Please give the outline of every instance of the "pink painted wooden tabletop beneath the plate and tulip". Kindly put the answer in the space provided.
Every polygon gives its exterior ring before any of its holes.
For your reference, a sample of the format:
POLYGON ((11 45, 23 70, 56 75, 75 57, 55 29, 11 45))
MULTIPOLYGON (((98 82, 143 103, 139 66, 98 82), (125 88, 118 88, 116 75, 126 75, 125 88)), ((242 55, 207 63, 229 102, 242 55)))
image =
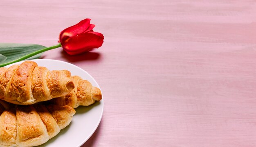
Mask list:
POLYGON ((1 0, 0 42, 54 45, 84 18, 104 34, 90 53, 42 56, 101 86, 103 118, 83 147, 255 147, 255 8, 254 0, 1 0))

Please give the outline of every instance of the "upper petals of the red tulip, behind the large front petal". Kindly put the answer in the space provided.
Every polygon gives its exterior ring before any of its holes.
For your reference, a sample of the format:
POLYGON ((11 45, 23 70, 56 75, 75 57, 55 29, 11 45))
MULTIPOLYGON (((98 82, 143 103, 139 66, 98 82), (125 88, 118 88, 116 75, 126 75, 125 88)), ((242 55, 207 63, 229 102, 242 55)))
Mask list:
POLYGON ((73 25, 73 26, 68 27, 68 28, 64 29, 63 31, 61 31, 60 36, 59 36, 59 42, 63 43, 65 41, 67 41, 67 39, 69 37, 73 37, 80 33, 92 30, 93 27, 95 27, 95 25, 91 25, 90 20, 91 19, 86 18, 86 19, 80 21, 79 23, 77 23, 76 25, 73 25))

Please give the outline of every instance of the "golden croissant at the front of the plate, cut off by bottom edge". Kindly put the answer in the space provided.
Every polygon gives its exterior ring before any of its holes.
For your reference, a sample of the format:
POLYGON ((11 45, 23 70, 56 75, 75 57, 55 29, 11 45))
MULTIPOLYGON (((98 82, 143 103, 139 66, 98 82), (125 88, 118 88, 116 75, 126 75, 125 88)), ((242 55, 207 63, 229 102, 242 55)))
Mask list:
POLYGON ((0 100, 0 114, 0 146, 32 147, 69 125, 75 110, 59 105, 9 105, 0 100))

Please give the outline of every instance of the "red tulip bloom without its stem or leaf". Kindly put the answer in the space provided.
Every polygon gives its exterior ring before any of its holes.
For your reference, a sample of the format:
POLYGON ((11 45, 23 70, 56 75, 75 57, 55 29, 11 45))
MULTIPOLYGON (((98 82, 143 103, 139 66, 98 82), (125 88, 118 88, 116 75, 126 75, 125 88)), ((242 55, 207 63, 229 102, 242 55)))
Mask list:
POLYGON ((90 20, 87 18, 61 31, 58 42, 68 54, 87 52, 103 44, 104 36, 92 30, 95 25, 90 24, 90 20))

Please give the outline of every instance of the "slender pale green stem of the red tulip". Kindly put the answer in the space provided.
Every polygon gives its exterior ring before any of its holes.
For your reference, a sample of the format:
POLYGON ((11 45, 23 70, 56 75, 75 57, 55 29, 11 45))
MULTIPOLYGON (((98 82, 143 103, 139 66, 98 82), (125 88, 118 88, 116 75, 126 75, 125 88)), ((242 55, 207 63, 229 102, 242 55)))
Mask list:
POLYGON ((46 48, 44 48, 44 49, 40 49, 40 50, 35 51, 35 52, 33 52, 33 53, 29 53, 29 54, 27 54, 27 55, 25 55, 25 56, 22 56, 22 57, 20 57, 20 58, 18 58, 18 59, 16 59, 16 60, 13 60, 13 61, 10 61, 10 62, 1 64, 0 67, 4 67, 4 66, 6 66, 6 65, 9 65, 9 64, 12 64, 12 63, 15 63, 15 62, 19 62, 19 61, 22 61, 22 60, 25 60, 25 59, 27 59, 27 58, 30 58, 30 57, 32 57, 32 56, 37 55, 38 53, 43 53, 43 52, 45 52, 45 51, 49 51, 49 50, 51 50, 51 49, 56 49, 56 48, 58 48, 58 47, 61 47, 61 43, 58 43, 57 45, 53 45, 53 46, 51 46, 51 47, 46 47, 46 48))

